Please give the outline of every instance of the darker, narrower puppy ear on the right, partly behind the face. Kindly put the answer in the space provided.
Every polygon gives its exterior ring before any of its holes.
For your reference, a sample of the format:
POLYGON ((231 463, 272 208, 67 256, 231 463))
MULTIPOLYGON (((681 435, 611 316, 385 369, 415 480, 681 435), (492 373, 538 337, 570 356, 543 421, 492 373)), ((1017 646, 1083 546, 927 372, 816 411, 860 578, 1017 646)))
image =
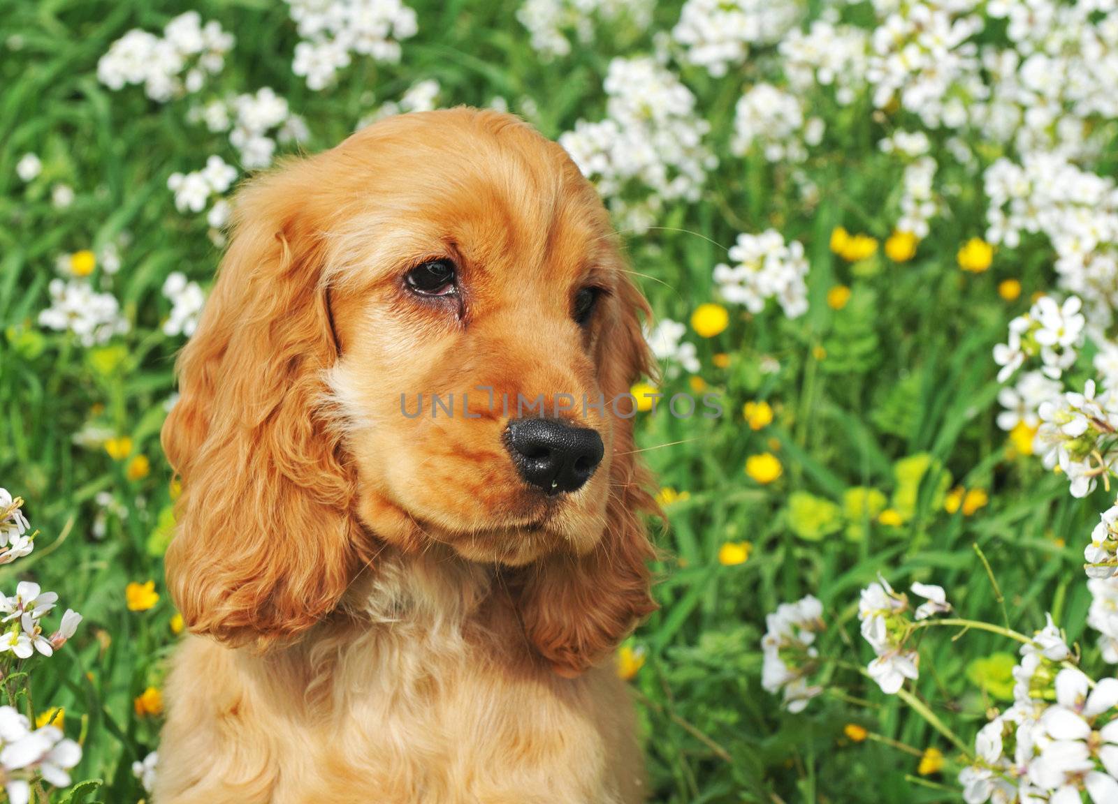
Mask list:
MULTIPOLYGON (((597 360, 607 400, 627 393, 650 372, 652 355, 641 332, 638 310, 647 315, 647 303, 628 279, 623 279, 598 339, 597 360)), ((624 413, 625 403, 619 408, 624 413)), ((562 676, 577 676, 608 657, 637 622, 656 609, 648 570, 654 551, 642 519, 642 514, 657 508, 646 489, 648 482, 647 470, 634 454, 633 420, 617 417, 601 540, 586 555, 556 554, 524 570, 518 601, 524 630, 562 676)))

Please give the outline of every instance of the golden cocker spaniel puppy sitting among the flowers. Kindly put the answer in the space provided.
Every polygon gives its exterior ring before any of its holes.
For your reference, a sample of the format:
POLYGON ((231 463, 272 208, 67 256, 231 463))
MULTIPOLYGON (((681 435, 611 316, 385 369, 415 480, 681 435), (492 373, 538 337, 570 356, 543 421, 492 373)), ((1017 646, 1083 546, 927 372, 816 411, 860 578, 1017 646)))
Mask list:
POLYGON ((591 186, 456 108, 236 207, 163 428, 192 635, 157 804, 641 801, 609 659, 654 607, 646 305, 591 186))

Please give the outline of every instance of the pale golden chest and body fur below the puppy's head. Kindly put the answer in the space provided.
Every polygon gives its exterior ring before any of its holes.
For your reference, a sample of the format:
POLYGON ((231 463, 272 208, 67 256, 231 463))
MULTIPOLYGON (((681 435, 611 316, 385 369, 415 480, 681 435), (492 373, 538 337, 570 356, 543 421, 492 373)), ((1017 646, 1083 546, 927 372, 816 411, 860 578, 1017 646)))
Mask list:
POLYGON ((347 624, 299 648, 181 645, 154 804, 641 801, 612 669, 568 680, 533 663, 486 613, 477 568, 379 570, 347 624))

